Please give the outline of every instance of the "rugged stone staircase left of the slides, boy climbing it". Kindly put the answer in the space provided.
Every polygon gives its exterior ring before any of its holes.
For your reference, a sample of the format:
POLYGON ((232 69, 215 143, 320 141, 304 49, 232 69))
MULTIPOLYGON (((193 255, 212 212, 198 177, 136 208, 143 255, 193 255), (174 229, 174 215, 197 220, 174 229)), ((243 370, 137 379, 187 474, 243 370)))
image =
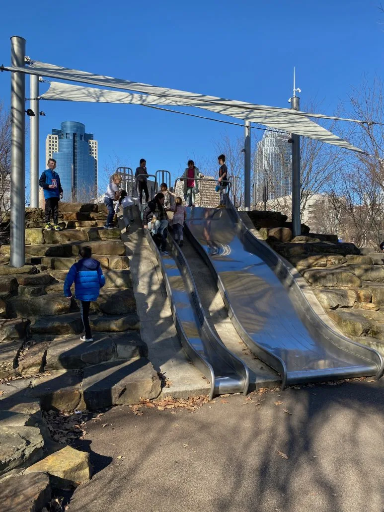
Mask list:
POLYGON ((43 409, 96 410, 160 394, 140 338, 130 261, 120 231, 102 229, 105 218, 104 206, 59 203, 65 230, 47 231, 42 211, 29 208, 26 266, 10 267, 10 248, 1 246, 0 410, 36 400, 43 409), (78 306, 62 291, 81 245, 92 247, 106 280, 92 303, 91 344, 80 342, 78 306))

